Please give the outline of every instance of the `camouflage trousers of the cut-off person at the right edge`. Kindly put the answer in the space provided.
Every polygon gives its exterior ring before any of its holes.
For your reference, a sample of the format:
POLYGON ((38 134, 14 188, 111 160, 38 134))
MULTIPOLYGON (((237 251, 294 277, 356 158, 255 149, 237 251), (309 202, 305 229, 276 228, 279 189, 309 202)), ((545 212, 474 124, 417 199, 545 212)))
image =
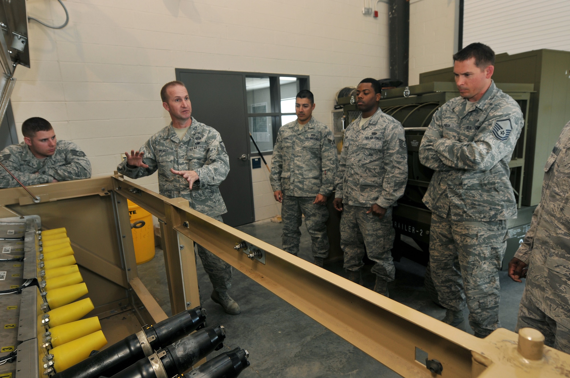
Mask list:
POLYGON ((544 344, 559 351, 570 353, 570 329, 556 322, 535 306, 527 290, 528 286, 524 287, 515 331, 518 332, 520 328, 524 327, 535 328, 544 335, 544 344))

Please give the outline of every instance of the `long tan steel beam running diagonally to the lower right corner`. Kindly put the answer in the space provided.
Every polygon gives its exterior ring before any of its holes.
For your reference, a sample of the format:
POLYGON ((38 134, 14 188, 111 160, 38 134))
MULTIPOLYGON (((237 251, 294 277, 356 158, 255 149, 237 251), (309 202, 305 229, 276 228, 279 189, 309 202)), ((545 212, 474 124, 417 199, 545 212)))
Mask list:
MULTIPOLYGON (((519 377, 533 366, 512 354, 518 339, 514 332, 500 329, 486 339, 475 338, 194 211, 188 202, 179 200, 168 200, 177 213, 170 216, 170 227, 402 376, 435 376, 415 360, 416 348, 442 363, 442 377, 499 376, 496 372, 519 377), (178 225, 174 224, 177 220, 178 225), (235 243, 244 240, 266 251, 266 264, 234 250, 235 243)), ((540 362, 539 371, 546 375, 541 376, 570 372, 570 355, 548 347, 545 355, 549 358, 540 362)))

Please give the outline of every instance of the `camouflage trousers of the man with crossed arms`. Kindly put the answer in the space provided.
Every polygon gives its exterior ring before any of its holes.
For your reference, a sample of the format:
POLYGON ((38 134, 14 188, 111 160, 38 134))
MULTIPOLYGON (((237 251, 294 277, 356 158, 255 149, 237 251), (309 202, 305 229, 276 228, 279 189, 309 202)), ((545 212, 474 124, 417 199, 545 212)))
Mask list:
POLYGON ((499 322, 499 269, 507 248, 507 221, 453 221, 431 214, 431 278, 449 310, 469 308, 469 324, 484 337, 499 322))

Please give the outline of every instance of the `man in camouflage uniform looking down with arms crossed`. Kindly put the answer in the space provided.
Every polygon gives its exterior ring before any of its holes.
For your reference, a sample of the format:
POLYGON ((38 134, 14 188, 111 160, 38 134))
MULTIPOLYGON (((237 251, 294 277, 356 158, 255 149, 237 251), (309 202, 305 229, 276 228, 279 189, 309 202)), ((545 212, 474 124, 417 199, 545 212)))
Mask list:
POLYGON ((491 80, 495 53, 472 43, 453 56, 461 97, 434 114, 420 162, 435 170, 424 203, 431 210, 430 265, 443 322, 469 324, 484 337, 500 327, 499 275, 507 219, 516 217, 508 163, 523 128, 519 105, 491 80))

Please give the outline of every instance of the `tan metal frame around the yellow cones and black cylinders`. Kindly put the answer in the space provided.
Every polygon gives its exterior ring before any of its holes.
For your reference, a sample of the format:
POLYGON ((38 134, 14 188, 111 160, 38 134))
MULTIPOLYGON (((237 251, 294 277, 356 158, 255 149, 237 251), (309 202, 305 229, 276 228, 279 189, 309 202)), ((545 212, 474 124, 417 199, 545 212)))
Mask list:
MULTIPOLYGON (((194 262, 195 241, 404 377, 437 376, 416 360, 417 350, 426 352, 429 359, 441 362, 442 377, 570 375, 570 355, 544 347, 542 359, 528 360, 518 351, 518 335, 514 332, 501 328, 485 339, 475 338, 194 211, 187 200, 165 198, 122 176, 44 184, 35 186, 34 193, 42 198, 42 202, 27 202, 28 195, 22 188, 2 190, 0 208, 6 212, 38 213, 42 216, 42 227, 47 223, 49 228, 50 216, 57 218, 59 224, 69 219, 81 223, 75 214, 82 202, 96 204, 100 197, 104 199, 100 206, 107 208, 112 202, 115 223, 111 228, 117 229, 116 236, 113 232, 107 232, 109 235, 97 233, 97 236, 101 243, 105 238, 116 239, 113 254, 121 256, 120 274, 115 277, 103 272, 105 269, 94 265, 95 258, 83 260, 83 254, 97 254, 88 248, 76 251, 76 258, 85 268, 107 280, 114 279, 117 285, 128 289, 137 314, 143 319, 157 322, 166 315, 137 277, 126 199, 157 216, 161 222, 173 314, 200 303, 194 262), (59 209, 56 214, 45 213, 53 212, 54 208, 59 209), (266 263, 250 260, 245 253, 235 250, 235 244, 242 241, 266 251, 266 263)), ((0 216, 3 216, 2 211, 0 216)), ((104 228, 108 219, 92 220, 92 223, 104 228)), ((109 229, 108 225, 106 229, 109 229)), ((70 237, 74 240, 72 235, 70 237)), ((75 240, 80 238, 78 235, 75 240)), ((108 262, 105 268, 109 268, 108 262)))

